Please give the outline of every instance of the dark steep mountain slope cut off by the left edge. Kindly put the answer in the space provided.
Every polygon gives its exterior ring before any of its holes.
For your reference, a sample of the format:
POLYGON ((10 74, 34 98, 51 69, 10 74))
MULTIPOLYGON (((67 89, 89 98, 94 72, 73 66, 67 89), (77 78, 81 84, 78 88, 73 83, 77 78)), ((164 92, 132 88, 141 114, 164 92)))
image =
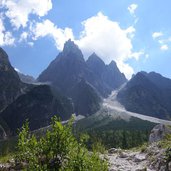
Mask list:
POLYGON ((22 93, 22 88, 24 85, 11 66, 8 55, 0 48, 0 111, 22 93))

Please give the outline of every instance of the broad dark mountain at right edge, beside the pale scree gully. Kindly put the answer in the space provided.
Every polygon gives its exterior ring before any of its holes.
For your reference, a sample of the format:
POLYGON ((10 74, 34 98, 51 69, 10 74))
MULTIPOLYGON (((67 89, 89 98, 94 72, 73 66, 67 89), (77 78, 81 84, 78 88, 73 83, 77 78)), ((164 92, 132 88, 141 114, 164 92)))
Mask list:
POLYGON ((117 98, 129 111, 161 119, 171 118, 171 80, 155 72, 137 73, 117 98))

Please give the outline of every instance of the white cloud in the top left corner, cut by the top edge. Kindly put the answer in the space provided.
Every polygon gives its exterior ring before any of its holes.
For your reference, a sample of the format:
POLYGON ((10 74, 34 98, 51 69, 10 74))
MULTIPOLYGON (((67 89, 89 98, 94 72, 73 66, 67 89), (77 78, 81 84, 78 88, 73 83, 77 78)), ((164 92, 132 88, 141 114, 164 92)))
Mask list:
POLYGON ((5 15, 11 24, 19 29, 26 27, 29 15, 35 14, 42 17, 52 8, 51 0, 3 0, 1 6, 6 8, 5 15))

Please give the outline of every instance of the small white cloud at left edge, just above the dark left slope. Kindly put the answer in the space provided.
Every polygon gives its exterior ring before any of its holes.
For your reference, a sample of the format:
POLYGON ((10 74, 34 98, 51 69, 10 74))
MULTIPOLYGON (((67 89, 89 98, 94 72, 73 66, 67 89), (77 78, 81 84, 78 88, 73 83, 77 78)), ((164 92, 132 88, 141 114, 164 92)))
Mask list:
POLYGON ((0 46, 13 45, 14 41, 15 39, 13 38, 11 32, 5 30, 3 18, 0 15, 0 46))

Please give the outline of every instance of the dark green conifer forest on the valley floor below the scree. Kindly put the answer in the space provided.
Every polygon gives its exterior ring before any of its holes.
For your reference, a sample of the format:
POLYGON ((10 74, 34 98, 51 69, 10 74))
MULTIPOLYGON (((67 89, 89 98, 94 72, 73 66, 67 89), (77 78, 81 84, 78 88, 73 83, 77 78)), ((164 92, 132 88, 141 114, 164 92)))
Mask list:
POLYGON ((141 146, 148 142, 150 131, 155 126, 151 122, 136 118, 130 121, 120 119, 108 121, 108 118, 95 121, 93 119, 81 120, 77 124, 77 129, 90 136, 90 146, 98 140, 106 149, 113 147, 130 149, 141 146))

